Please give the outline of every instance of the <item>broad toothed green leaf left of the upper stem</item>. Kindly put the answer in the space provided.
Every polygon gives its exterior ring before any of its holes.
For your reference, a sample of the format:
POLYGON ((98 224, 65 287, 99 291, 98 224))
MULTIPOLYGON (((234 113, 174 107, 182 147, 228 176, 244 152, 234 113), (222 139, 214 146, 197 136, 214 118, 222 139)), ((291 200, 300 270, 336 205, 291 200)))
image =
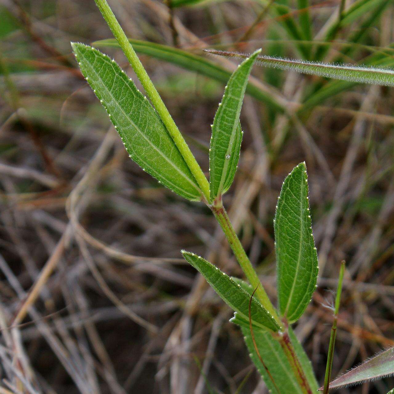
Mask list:
POLYGON ((201 200, 197 182, 160 117, 134 82, 108 56, 72 43, 87 82, 106 108, 125 148, 144 171, 180 196, 201 200))

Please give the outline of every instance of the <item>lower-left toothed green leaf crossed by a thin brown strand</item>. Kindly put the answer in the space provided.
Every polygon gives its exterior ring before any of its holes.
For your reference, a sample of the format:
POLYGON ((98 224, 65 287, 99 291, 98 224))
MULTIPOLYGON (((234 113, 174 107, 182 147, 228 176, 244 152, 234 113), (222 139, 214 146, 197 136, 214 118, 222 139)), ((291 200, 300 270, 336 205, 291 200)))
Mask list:
MULTIPOLYGON (((184 250, 182 250, 182 255, 187 262, 203 275, 206 281, 230 308, 235 310, 243 319, 249 321, 250 295, 239 284, 204 258, 184 250)), ((279 325, 275 322, 274 318, 255 297, 253 297, 251 303, 251 319, 253 325, 259 329, 279 330, 279 325)))

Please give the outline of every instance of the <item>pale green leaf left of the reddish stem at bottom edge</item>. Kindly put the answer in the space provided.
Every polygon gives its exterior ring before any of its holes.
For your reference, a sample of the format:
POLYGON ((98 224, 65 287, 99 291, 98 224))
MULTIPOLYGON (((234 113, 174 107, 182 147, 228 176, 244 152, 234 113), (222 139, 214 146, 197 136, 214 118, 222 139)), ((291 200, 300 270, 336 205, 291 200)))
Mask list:
POLYGON ((303 393, 279 341, 274 339, 271 333, 253 330, 258 351, 280 393, 278 393, 262 362, 258 358, 249 327, 241 327, 241 330, 253 364, 255 364, 258 372, 260 372, 269 391, 274 394, 303 393))

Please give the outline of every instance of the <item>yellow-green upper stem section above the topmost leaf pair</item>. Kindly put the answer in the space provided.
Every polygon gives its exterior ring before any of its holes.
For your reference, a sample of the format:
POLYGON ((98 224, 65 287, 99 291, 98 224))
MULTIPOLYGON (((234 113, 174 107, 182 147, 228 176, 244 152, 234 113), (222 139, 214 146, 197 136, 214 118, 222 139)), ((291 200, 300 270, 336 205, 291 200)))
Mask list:
POLYGON ((186 164, 188 165, 191 173, 195 177, 195 180, 199 184, 203 197, 209 202, 209 184, 206 179, 201 167, 195 160, 193 154, 191 153, 186 141, 184 140, 182 134, 180 133, 177 125, 175 124, 173 118, 167 110, 162 98, 160 97, 158 91, 153 85, 151 78, 149 78, 148 73, 145 71, 141 61, 139 60, 136 52, 134 51, 132 45, 128 41, 125 32, 123 32, 121 25, 117 21, 112 9, 108 5, 106 0, 95 0, 97 7, 107 22, 109 28, 111 29, 114 37, 117 39, 119 45, 121 46, 126 58, 133 67, 134 72, 138 76, 141 85, 144 87, 149 99, 151 100, 154 108, 160 115, 167 131, 171 135, 175 144, 177 145, 180 153, 182 154, 186 164))

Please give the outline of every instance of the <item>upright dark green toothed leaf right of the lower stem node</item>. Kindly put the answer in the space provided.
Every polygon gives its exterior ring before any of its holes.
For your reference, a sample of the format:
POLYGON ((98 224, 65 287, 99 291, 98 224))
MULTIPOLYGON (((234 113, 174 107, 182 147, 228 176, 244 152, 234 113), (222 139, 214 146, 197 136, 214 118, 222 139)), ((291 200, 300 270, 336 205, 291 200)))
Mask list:
POLYGON ((305 163, 294 167, 282 184, 274 230, 279 311, 291 323, 308 306, 318 276, 305 163))

